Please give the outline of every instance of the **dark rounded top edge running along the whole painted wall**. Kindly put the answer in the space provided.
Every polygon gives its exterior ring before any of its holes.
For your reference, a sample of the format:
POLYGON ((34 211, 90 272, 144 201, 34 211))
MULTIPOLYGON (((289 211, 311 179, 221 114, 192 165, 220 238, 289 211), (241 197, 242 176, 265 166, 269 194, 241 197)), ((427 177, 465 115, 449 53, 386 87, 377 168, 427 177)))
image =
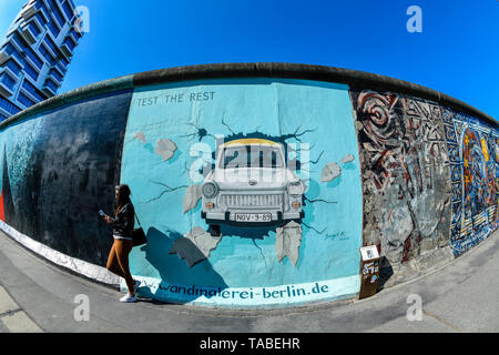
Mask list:
POLYGON ((335 67, 258 62, 175 67, 104 80, 98 83, 71 90, 67 93, 59 94, 40 103, 37 103, 35 105, 28 108, 1 122, 0 130, 23 118, 31 116, 43 111, 53 110, 55 108, 85 98, 113 91, 196 79, 249 77, 315 80, 345 83, 353 88, 358 87, 363 89, 395 91, 398 93, 417 97, 424 100, 434 101, 436 103, 439 103, 440 105, 449 106, 469 115, 482 119, 490 124, 498 125, 496 119, 467 104, 466 102, 457 100, 436 90, 404 80, 335 67))

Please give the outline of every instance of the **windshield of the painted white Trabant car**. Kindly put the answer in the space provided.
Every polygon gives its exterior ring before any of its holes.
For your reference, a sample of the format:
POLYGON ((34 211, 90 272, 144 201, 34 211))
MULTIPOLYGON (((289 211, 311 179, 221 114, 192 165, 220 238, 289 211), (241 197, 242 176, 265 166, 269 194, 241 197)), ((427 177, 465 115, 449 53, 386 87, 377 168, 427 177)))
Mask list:
POLYGON ((240 145, 224 148, 218 168, 283 168, 278 148, 266 145, 240 145))

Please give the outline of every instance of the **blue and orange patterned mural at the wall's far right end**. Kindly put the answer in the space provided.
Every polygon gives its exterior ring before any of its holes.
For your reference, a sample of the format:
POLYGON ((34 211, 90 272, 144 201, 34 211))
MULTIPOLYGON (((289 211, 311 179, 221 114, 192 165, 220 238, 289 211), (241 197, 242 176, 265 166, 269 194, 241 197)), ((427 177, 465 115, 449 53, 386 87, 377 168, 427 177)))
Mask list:
POLYGON ((460 255, 497 229, 498 131, 476 118, 442 109, 450 160, 450 246, 460 255))

